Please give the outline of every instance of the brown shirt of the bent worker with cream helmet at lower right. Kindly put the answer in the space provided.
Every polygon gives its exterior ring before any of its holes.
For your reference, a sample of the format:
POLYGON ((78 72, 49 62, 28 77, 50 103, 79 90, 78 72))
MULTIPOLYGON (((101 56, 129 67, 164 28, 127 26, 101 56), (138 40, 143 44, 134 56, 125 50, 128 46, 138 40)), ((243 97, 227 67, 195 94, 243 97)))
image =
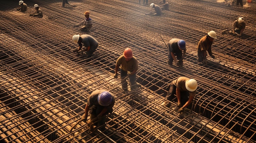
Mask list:
POLYGON ((191 92, 189 90, 186 89, 186 81, 188 81, 189 78, 187 77, 178 77, 177 79, 175 79, 173 81, 173 84, 180 89, 180 91, 188 91, 189 92, 189 96, 195 96, 196 90, 191 92))

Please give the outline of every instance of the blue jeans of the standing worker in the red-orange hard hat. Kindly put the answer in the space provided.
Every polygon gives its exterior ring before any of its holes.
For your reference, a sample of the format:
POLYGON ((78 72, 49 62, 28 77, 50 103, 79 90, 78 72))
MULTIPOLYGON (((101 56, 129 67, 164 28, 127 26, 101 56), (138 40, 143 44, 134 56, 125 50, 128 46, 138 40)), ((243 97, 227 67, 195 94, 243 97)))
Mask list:
MULTIPOLYGON (((122 89, 123 90, 128 90, 128 86, 127 86, 127 79, 124 79, 127 76, 127 71, 124 70, 120 70, 120 74, 121 74, 121 84, 122 84, 122 89)), ((131 90, 134 90, 137 88, 137 83, 136 83, 136 73, 133 75, 129 76, 130 79, 130 88, 131 90)))

